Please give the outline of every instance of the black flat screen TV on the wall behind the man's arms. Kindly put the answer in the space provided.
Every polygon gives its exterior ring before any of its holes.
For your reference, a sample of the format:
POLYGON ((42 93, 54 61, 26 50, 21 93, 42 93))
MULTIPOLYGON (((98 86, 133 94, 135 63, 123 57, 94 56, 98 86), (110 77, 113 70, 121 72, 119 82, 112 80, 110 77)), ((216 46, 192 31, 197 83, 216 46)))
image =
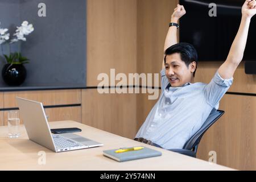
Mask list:
MULTIPOLYGON (((195 46, 199 61, 225 61, 241 22, 245 0, 180 0, 187 13, 180 19, 180 42, 195 46), (216 16, 209 16, 210 3, 216 4, 216 16)), ((213 13, 213 11, 211 11, 213 13)), ((243 56, 256 61, 256 17, 251 19, 243 56)))

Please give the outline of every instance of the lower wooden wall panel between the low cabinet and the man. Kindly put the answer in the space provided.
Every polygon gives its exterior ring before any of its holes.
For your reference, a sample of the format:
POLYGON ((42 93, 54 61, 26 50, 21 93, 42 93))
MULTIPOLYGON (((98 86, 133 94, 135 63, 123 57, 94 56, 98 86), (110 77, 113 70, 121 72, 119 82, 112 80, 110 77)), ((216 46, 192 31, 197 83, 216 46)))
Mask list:
POLYGON ((135 94, 82 90, 82 123, 133 139, 137 133, 135 94))

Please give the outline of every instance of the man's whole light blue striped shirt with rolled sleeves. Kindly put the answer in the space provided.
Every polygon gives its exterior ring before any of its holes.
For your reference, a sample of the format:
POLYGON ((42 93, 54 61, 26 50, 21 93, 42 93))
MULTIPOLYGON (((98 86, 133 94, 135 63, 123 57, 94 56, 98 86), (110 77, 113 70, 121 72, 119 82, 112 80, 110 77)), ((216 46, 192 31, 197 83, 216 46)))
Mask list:
POLYGON ((218 109, 218 102, 232 85, 233 77, 223 79, 217 71, 209 84, 196 82, 171 87, 165 69, 160 73, 162 92, 136 138, 151 140, 166 149, 183 148, 210 111, 218 109))

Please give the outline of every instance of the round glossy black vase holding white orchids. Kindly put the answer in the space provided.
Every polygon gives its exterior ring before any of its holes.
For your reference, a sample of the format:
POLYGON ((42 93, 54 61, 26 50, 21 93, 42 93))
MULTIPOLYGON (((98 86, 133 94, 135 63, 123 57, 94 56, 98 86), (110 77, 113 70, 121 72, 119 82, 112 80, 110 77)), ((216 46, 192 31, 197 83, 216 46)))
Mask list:
POLYGON ((5 64, 2 69, 2 77, 7 85, 19 86, 27 76, 23 64, 5 64))

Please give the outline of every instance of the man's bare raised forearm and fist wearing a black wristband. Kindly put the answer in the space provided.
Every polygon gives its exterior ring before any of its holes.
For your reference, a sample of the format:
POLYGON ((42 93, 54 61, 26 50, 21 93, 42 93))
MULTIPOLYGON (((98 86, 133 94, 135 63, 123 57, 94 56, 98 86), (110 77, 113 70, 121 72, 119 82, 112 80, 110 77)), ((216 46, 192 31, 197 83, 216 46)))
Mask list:
MULTIPOLYGON (((174 13, 171 16, 171 23, 178 23, 181 16, 183 16, 185 13, 186 11, 184 7, 178 4, 177 7, 174 9, 174 13)), ((164 52, 168 47, 171 47, 176 43, 177 43, 177 27, 171 26, 169 27, 169 30, 166 36, 166 41, 164 42, 164 52)), ((164 61, 163 61, 162 68, 164 68, 164 61)))

